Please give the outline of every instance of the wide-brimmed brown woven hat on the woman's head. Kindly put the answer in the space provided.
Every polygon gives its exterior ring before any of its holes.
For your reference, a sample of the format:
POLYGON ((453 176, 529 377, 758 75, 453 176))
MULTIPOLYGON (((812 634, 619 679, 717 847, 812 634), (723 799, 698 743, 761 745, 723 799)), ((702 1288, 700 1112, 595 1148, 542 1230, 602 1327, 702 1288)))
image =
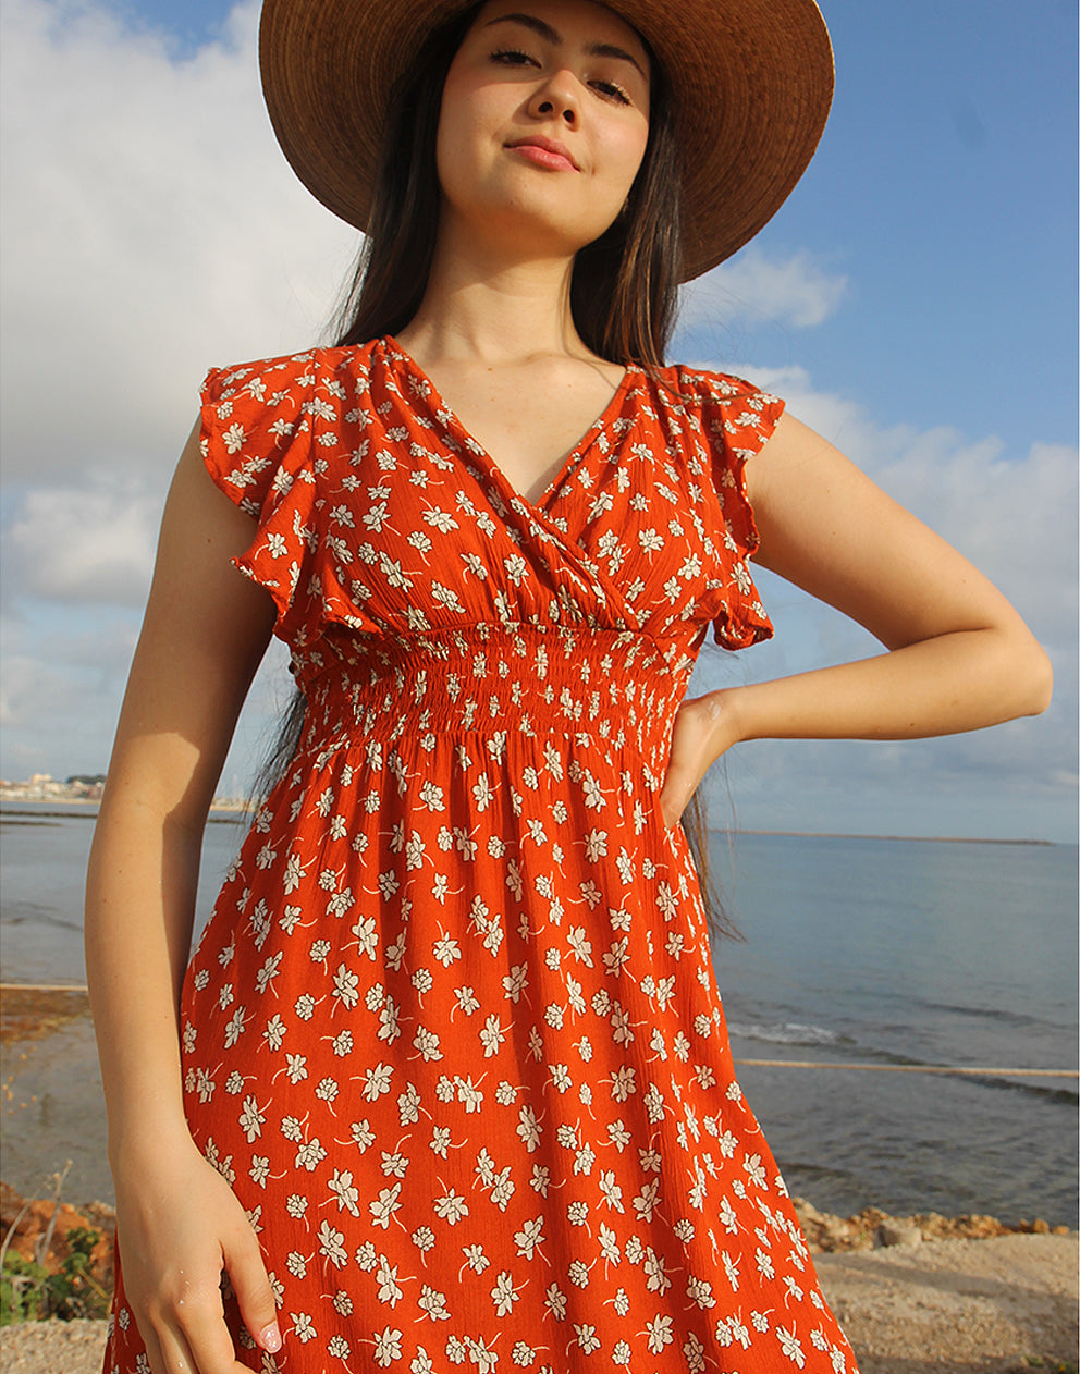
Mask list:
MULTIPOLYGON (((469 0, 264 0, 262 91, 308 190, 365 229, 390 88, 469 0)), ((675 91, 683 280, 731 257, 807 169, 833 99, 813 0, 611 0, 675 91)))

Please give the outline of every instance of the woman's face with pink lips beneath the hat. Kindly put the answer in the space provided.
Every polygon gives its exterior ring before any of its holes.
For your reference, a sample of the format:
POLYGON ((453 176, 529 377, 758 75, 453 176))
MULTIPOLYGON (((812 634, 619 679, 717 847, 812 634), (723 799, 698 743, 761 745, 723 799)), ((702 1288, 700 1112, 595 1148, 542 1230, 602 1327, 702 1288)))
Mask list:
POLYGON ((573 254, 614 221, 649 140, 649 56, 587 0, 491 0, 442 92, 442 227, 573 254))

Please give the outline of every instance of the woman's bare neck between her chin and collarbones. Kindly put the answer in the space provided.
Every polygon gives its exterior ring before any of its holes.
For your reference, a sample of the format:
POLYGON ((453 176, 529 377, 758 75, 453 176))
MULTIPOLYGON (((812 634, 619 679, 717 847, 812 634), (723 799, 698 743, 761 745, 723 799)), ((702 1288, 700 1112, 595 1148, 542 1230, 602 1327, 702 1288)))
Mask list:
POLYGON ((420 308, 397 335, 403 348, 422 364, 592 357, 570 315, 573 257, 522 258, 464 239, 440 234, 420 308))

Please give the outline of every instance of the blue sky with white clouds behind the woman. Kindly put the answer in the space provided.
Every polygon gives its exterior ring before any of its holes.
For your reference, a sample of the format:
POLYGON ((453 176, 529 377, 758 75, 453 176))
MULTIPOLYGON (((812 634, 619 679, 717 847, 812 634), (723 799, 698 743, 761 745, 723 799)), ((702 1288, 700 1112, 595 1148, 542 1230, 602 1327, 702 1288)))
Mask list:
MULTIPOLYGON (((1076 841, 1077 91, 1065 0, 823 0, 837 95, 787 203, 684 293, 673 356, 783 396, 971 558, 1047 647, 1040 716, 951 739, 745 745, 713 824, 1076 841)), ((0 774, 104 771, 161 504, 212 365, 317 341, 356 235, 294 179, 258 5, 0 10, 0 774)), ((760 574, 776 639, 693 690, 863 657, 760 574)), ((247 786, 287 698, 253 688, 247 786)))

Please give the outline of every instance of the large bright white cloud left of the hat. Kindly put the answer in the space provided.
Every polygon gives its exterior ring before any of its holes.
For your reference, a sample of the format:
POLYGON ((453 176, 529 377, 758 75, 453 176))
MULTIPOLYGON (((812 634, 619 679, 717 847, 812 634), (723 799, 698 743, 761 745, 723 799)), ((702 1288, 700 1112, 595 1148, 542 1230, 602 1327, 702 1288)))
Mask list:
POLYGON ((212 364, 312 342, 357 235, 300 185, 258 91, 258 5, 164 41, 69 0, 5 0, 3 442, 37 482, 161 481, 212 364))

